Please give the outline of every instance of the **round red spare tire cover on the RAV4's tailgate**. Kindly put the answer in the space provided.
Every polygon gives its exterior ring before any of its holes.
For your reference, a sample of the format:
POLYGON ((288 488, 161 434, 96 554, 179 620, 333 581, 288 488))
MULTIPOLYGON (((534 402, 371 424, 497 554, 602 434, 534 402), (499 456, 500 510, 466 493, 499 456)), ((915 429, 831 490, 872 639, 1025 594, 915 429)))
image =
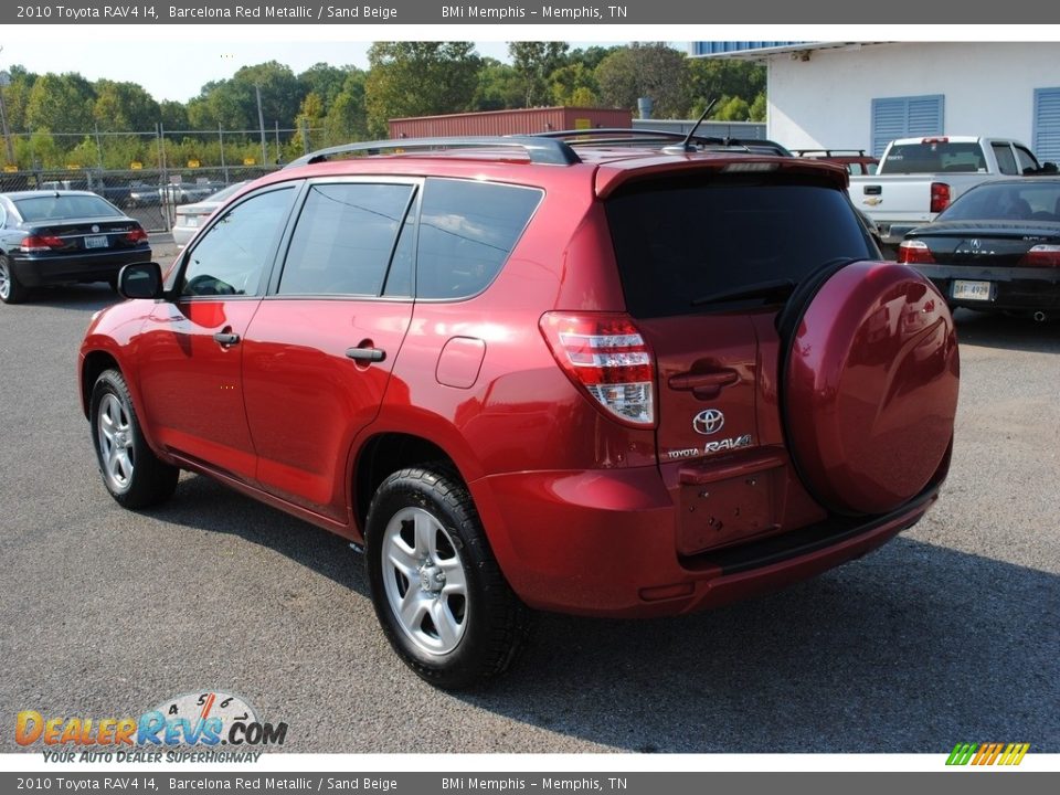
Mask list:
POLYGON ((784 364, 784 420, 806 488, 840 513, 886 513, 946 457, 957 410, 946 301, 893 263, 847 265, 817 290, 784 364))

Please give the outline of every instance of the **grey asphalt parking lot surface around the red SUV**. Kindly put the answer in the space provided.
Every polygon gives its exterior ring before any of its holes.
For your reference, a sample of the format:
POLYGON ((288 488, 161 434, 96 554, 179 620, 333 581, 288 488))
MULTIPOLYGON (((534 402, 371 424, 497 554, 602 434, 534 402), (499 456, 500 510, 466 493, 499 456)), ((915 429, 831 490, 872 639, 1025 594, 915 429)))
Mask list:
POLYGON ((75 362, 113 300, 0 306, 0 751, 21 710, 221 689, 299 752, 1060 752, 1060 322, 958 314, 953 470, 880 551, 714 613, 540 616, 507 678, 453 696, 391 653, 341 539, 197 476, 147 513, 107 496, 75 362))

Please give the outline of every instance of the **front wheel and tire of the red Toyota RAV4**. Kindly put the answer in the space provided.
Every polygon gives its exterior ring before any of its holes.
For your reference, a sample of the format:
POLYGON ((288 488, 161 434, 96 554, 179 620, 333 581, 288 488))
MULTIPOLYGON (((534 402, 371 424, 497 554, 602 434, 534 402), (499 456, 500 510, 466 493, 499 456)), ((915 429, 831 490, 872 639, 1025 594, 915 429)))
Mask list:
POLYGON ((92 390, 88 416, 96 460, 110 496, 124 508, 148 508, 169 499, 180 469, 148 446, 129 389, 117 370, 106 370, 92 390))

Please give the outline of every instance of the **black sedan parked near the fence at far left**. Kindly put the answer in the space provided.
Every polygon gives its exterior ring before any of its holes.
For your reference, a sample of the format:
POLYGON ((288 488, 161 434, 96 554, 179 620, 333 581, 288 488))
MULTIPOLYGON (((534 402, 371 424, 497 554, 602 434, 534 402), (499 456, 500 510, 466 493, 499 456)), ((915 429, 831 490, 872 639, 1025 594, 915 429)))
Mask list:
POLYGON ((147 262, 147 232, 88 191, 0 193, 0 300, 19 304, 32 287, 117 283, 123 265, 147 262))

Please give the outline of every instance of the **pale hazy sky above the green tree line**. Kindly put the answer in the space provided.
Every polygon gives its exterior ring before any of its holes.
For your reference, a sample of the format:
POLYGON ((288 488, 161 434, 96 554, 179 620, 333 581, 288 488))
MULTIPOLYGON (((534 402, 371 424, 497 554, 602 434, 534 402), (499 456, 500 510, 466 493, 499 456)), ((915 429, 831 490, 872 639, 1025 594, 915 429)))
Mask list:
MULTIPOLYGON (((0 68, 19 64, 39 74, 78 72, 89 81, 107 78, 138 83, 157 102, 188 102, 199 96, 199 91, 210 81, 231 77, 243 66, 266 61, 286 64, 295 74, 321 61, 332 66, 350 64, 367 68, 371 46, 369 41, 251 41, 246 36, 237 38, 239 34, 231 30, 227 38, 203 41, 194 40, 198 39, 195 32, 189 26, 172 33, 169 41, 161 44, 157 41, 128 41, 127 38, 114 46, 106 41, 82 36, 61 45, 42 47, 40 40, 32 36, 3 36, 0 39, 3 46, 0 68)), ((462 33, 465 31, 454 30, 453 38, 462 33)), ((571 42, 574 47, 594 43, 622 42, 571 42)), ((508 60, 506 41, 476 42, 476 51, 499 61, 508 60)))

